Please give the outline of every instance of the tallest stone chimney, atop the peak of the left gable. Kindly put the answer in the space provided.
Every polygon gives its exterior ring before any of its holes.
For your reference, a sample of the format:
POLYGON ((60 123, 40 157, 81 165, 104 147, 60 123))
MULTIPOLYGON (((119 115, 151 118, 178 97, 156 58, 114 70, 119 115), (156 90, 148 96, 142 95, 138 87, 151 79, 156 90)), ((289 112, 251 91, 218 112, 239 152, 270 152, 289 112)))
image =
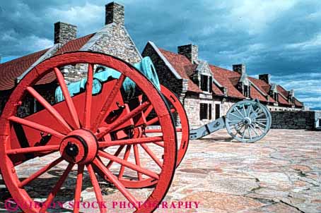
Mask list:
POLYGON ((105 25, 124 25, 124 6, 111 2, 105 5, 105 25))

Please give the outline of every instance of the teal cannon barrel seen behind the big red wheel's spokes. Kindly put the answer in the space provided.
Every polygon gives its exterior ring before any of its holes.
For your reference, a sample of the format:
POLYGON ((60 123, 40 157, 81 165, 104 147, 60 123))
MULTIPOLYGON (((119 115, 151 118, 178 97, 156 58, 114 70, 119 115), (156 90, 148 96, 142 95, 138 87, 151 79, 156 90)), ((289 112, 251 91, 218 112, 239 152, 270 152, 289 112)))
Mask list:
MULTIPOLYGON (((144 57, 144 59, 142 59, 139 63, 134 63, 134 67, 141 73, 143 73, 149 80, 151 80, 153 85, 155 85, 158 90, 161 90, 161 84, 159 83, 158 75, 156 73, 153 62, 151 61, 151 58, 144 57)), ((119 78, 120 76, 120 73, 112 68, 102 67, 102 70, 103 71, 96 72, 93 75, 93 95, 100 92, 104 82, 110 79, 119 78)), ((68 85, 68 90, 71 97, 79 94, 80 92, 83 92, 86 88, 86 82, 87 79, 83 78, 75 83, 70 83, 68 85)), ((129 78, 126 78, 124 80, 122 87, 127 99, 133 98, 136 94, 136 84, 129 78)), ((61 87, 57 87, 54 97, 56 102, 62 102, 64 100, 64 95, 62 95, 61 87)))

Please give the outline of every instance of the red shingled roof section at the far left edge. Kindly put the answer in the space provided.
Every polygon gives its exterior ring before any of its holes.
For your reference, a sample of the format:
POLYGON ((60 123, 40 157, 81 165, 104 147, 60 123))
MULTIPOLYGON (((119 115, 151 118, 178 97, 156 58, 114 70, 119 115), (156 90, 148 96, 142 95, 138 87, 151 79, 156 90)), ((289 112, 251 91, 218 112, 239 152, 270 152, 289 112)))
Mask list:
POLYGON ((26 71, 48 49, 28 54, 18 59, 0 64, 0 90, 10 90, 15 86, 16 78, 26 71))

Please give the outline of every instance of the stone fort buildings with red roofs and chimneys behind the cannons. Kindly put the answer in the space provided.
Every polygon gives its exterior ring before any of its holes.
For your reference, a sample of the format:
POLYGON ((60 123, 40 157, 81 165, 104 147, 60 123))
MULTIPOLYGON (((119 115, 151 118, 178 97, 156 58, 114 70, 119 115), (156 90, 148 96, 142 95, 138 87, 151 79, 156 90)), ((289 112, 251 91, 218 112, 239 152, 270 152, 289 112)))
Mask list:
MULTIPOLYGON (((3 109, 13 87, 41 61, 69 51, 99 51, 117 56, 129 63, 151 57, 159 79, 180 97, 191 126, 200 126, 223 116, 229 107, 243 99, 259 99, 271 111, 299 111, 303 103, 293 90, 270 81, 269 74, 259 79, 247 75, 244 64, 233 65, 233 71, 199 59, 198 47, 187 44, 177 47, 177 53, 148 42, 140 54, 124 26, 124 6, 112 2, 105 6, 105 26, 97 32, 77 38, 77 27, 68 23, 54 24, 54 46, 0 64, 0 109, 3 109)), ((65 79, 74 82, 83 78, 83 66, 64 68, 65 79)), ((48 75, 37 83, 37 90, 54 103, 57 81, 48 75)), ((40 108, 35 99, 27 97, 19 114, 33 113, 40 108)), ((0 111, 1 112, 1 111, 0 111)))

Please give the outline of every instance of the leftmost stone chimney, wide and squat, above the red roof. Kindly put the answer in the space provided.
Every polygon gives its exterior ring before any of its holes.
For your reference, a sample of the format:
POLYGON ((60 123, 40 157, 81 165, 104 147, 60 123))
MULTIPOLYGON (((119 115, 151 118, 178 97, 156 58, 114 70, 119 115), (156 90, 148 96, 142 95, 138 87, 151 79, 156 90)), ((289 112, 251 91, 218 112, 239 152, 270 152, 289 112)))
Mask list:
POLYGON ((66 44, 77 37, 77 26, 68 23, 54 23, 54 44, 66 44))

